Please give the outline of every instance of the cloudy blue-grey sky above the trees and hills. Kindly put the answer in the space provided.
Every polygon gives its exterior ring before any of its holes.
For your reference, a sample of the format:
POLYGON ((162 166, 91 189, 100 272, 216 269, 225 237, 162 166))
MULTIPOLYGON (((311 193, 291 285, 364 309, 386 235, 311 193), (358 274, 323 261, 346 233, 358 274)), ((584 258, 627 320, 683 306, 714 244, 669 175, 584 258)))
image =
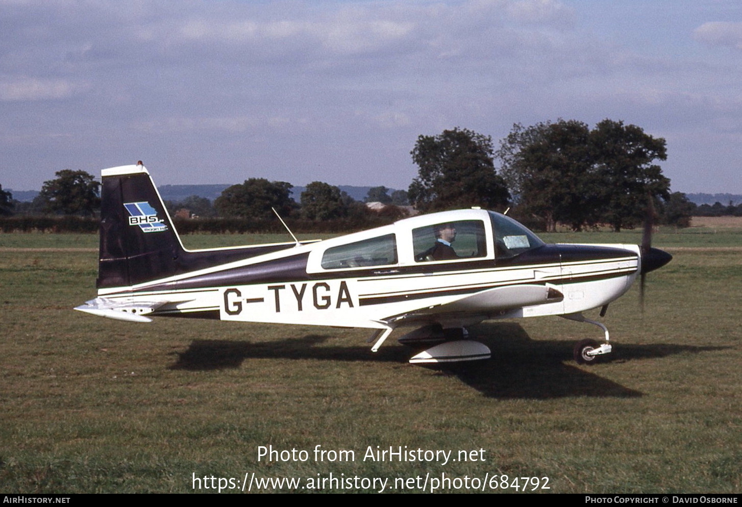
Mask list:
POLYGON ((0 0, 0 185, 407 188, 420 134, 623 120, 672 190, 742 193, 738 0, 0 0))

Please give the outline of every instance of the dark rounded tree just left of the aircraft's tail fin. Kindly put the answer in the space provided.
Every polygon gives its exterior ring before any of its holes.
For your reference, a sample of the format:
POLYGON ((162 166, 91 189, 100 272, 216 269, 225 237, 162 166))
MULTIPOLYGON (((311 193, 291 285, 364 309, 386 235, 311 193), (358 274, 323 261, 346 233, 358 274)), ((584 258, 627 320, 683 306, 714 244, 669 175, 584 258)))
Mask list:
POLYGON ((40 199, 47 211, 91 216, 100 208, 100 183, 84 170, 58 170, 55 179, 44 182, 40 199))

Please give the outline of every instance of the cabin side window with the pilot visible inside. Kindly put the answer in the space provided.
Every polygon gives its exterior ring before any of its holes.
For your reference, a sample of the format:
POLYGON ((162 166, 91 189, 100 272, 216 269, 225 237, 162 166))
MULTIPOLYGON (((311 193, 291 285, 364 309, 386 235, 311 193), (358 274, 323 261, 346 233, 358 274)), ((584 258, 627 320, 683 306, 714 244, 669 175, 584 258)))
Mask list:
POLYGON ((481 220, 458 220, 416 228, 413 248, 416 262, 485 257, 485 224, 481 220))

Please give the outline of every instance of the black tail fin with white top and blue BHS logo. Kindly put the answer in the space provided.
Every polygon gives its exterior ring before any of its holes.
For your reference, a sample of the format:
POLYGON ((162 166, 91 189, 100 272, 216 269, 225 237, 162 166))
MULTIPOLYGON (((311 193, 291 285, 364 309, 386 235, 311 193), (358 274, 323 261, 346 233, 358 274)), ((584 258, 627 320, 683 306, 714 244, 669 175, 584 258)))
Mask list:
POLYGON ((98 288, 128 287, 180 271, 183 244, 141 162, 102 171, 98 288))

